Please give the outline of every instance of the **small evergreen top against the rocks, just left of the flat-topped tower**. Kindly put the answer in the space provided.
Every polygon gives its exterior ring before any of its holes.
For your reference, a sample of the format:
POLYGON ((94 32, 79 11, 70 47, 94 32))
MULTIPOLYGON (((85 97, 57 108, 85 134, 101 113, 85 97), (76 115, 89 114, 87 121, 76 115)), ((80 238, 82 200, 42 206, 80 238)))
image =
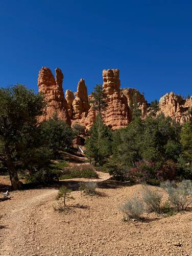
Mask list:
POLYGON ((92 103, 93 109, 97 110, 99 113, 106 109, 106 107, 108 106, 108 97, 106 95, 106 92, 103 90, 101 84, 97 84, 94 87, 94 91, 92 92, 91 96, 92 100, 90 101, 90 103, 92 103))

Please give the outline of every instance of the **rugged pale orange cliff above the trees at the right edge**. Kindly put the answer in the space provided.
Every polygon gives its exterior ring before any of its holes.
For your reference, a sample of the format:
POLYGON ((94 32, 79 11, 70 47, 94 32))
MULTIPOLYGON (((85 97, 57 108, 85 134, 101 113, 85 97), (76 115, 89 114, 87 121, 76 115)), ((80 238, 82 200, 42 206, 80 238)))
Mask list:
POLYGON ((192 98, 185 100, 180 95, 170 92, 160 98, 158 113, 164 113, 165 117, 170 116, 176 122, 182 124, 191 121, 191 107, 192 98))

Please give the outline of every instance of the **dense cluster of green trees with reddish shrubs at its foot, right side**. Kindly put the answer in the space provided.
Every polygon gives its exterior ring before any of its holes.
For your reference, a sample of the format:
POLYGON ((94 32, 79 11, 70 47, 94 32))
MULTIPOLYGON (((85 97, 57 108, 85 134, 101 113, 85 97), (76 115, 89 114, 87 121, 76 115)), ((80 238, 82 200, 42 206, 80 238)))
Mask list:
POLYGON ((180 130, 179 124, 159 114, 146 120, 137 117, 125 129, 115 131, 110 161, 122 167, 121 179, 159 183, 176 178, 181 154, 180 130))

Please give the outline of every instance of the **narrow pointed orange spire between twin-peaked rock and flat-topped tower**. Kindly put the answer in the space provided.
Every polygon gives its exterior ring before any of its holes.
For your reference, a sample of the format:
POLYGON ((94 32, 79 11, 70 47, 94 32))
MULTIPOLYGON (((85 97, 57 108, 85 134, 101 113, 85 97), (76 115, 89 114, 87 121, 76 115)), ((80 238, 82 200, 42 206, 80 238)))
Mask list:
POLYGON ((82 119, 87 117, 89 111, 89 100, 87 95, 87 87, 85 80, 81 79, 75 92, 75 100, 73 101, 73 119, 82 119))

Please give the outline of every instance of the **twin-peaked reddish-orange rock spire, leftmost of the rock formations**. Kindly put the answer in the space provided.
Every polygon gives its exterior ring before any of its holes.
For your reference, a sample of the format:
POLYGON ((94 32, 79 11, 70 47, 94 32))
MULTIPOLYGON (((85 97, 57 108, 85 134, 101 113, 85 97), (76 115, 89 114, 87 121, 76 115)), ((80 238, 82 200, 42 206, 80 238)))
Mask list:
POLYGON ((53 117, 57 112, 58 118, 65 120, 67 124, 71 124, 68 110, 67 101, 64 98, 63 92, 63 74, 61 69, 55 69, 56 77, 54 78, 51 70, 47 67, 42 67, 38 75, 39 92, 44 94, 47 101, 45 114, 39 117, 39 121, 46 121, 53 117))

